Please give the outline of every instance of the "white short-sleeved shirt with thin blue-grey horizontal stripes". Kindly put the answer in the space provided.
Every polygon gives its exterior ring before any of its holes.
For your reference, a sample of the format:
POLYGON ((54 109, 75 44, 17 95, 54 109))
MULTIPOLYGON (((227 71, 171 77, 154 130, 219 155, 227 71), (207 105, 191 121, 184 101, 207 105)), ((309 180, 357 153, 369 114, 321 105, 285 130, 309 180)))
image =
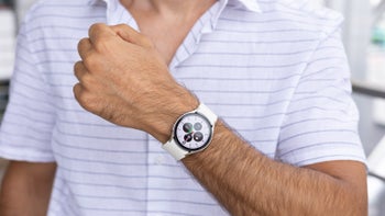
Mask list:
MULTIPOLYGON (((169 70, 272 159, 298 167, 364 161, 341 20, 306 0, 219 0, 193 26, 169 70)), ((118 0, 44 0, 29 12, 0 156, 57 162, 50 216, 228 215, 156 139, 75 101, 77 43, 97 22, 138 30, 118 0)))

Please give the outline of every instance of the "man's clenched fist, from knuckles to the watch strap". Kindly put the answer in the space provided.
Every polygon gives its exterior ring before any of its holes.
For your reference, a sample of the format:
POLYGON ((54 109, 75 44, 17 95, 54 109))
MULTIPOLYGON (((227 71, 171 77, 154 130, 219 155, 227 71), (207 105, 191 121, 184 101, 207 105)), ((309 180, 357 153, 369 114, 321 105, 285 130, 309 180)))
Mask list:
POLYGON ((175 120, 198 105, 152 42, 128 25, 94 24, 78 52, 82 60, 75 64, 75 98, 109 122, 165 141, 175 120))

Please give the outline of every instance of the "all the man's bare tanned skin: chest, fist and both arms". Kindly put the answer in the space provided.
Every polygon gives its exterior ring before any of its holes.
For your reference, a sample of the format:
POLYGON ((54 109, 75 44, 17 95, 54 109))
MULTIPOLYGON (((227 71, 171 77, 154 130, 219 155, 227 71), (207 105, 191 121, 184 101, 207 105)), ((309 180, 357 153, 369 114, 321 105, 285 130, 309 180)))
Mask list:
MULTIPOLYGON (((127 25, 92 25, 89 37, 79 42, 81 60, 74 69, 79 80, 74 94, 79 104, 107 121, 144 130, 165 143, 177 117, 199 104, 174 80, 167 66, 188 30, 213 3, 201 2, 207 3, 122 1, 140 21, 141 33, 127 25), (141 16, 144 11, 148 16, 141 16), (177 18, 185 23, 175 23, 177 18), (170 26, 179 31, 174 38, 157 37, 163 34, 152 31, 153 26, 164 34, 170 26)), ((0 215, 25 215, 15 209, 16 202, 26 206, 29 215, 42 215, 55 166, 15 163, 11 162, 6 174, 0 215), (31 190, 35 185, 40 190, 31 190), (44 198, 33 203, 38 194, 44 198)), ((280 163, 252 148, 221 120, 210 146, 186 157, 183 163, 232 215, 367 215, 364 164, 329 161, 296 168, 280 163)))

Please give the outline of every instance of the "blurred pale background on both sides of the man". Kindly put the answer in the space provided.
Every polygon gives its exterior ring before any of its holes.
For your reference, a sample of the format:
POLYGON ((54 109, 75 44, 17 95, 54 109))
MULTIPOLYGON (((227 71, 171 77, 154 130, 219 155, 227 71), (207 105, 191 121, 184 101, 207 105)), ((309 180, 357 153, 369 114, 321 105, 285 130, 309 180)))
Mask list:
MULTIPOLYGON (((34 1, 0 0, 0 122, 8 100, 18 24, 34 1)), ((370 216, 385 216, 385 0, 308 2, 340 11, 345 18, 343 42, 369 157, 370 216)), ((0 181, 6 164, 0 158, 0 181)))

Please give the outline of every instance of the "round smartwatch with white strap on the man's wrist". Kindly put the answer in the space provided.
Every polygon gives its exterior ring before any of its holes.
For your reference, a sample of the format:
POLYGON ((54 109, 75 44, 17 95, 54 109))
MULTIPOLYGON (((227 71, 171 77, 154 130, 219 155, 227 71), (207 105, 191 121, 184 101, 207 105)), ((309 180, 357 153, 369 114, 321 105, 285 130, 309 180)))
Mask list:
POLYGON ((174 124, 172 138, 162 147, 176 160, 206 149, 213 136, 217 115, 200 104, 198 109, 183 114, 174 124))

